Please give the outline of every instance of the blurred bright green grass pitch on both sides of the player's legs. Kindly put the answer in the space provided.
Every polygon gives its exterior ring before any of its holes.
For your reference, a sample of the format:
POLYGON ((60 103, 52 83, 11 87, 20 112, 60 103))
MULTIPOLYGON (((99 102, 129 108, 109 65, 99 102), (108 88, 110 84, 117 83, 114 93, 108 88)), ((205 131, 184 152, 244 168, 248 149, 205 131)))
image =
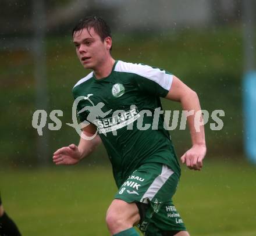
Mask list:
MULTIPOLYGON (((174 202, 192 235, 256 235, 256 169, 244 160, 183 167, 174 202)), ((6 211, 23 235, 109 235, 105 212, 116 192, 105 166, 0 169, 6 211)))

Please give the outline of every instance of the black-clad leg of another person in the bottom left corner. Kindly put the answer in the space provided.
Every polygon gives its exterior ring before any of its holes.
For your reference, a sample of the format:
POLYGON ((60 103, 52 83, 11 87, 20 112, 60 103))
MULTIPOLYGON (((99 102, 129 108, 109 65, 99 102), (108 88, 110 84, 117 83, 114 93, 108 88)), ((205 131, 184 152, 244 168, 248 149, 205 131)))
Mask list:
POLYGON ((0 196, 0 235, 1 236, 20 236, 20 232, 12 219, 3 210, 0 196))

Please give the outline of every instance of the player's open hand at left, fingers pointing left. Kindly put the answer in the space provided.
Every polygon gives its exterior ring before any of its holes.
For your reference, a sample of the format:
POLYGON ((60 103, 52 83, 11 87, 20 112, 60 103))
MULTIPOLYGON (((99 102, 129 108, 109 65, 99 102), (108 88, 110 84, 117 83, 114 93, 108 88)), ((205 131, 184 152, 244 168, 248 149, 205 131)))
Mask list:
POLYGON ((81 153, 76 145, 70 144, 54 152, 52 157, 56 165, 75 165, 81 159, 81 153))

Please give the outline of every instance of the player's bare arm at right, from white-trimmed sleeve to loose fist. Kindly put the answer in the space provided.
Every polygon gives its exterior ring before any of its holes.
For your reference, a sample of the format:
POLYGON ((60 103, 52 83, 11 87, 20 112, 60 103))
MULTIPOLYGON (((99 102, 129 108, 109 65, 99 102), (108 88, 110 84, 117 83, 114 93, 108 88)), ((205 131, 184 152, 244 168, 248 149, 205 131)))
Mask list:
MULTIPOLYGON (((201 170, 202 159, 206 154, 206 145, 204 137, 204 126, 200 126, 200 131, 195 130, 195 113, 200 108, 200 102, 196 92, 191 90, 179 78, 173 76, 172 87, 170 88, 167 99, 182 103, 183 110, 194 110, 193 115, 187 117, 189 124, 192 147, 181 157, 182 163, 186 162, 187 167, 193 170, 201 170)), ((202 120, 202 116, 200 117, 202 120)))

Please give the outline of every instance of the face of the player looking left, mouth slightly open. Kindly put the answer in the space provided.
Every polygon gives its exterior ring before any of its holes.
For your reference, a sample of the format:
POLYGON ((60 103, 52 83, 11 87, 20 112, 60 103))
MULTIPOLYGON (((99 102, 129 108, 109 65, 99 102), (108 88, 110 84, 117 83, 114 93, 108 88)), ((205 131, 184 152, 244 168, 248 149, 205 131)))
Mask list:
POLYGON ((97 70, 110 55, 109 49, 112 41, 110 37, 106 37, 102 42, 94 28, 91 28, 89 32, 86 28, 75 32, 73 42, 77 56, 84 68, 97 70))

